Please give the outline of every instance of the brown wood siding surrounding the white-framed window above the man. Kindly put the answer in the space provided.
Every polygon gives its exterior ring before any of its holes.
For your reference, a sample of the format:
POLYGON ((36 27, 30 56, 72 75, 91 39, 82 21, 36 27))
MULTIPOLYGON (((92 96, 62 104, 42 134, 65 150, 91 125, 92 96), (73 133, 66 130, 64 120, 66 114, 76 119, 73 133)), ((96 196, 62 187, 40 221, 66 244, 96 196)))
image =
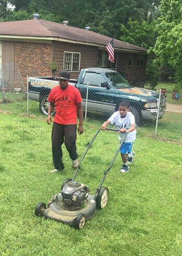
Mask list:
POLYGON ((58 76, 59 72, 63 69, 64 52, 79 52, 81 54, 80 70, 78 72, 70 72, 72 79, 77 79, 82 68, 96 67, 98 48, 90 45, 78 45, 66 42, 53 42, 53 60, 57 63, 57 71, 53 75, 58 76))

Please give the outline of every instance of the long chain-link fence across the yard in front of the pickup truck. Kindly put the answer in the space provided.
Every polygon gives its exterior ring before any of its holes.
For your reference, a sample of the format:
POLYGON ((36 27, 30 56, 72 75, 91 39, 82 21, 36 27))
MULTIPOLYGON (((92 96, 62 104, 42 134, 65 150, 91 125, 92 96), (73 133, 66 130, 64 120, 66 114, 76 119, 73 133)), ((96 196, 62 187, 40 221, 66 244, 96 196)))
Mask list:
MULTIPOLYGON (((169 104, 163 90, 151 92, 136 87, 113 89, 99 79, 94 83, 87 81, 77 84, 76 80, 70 80, 70 83, 81 93, 85 122, 99 127, 118 110, 120 101, 128 100, 138 133, 144 136, 158 135, 182 143, 181 98, 174 99, 175 104, 169 104)), ((42 113, 46 117, 49 106, 47 97, 51 88, 57 85, 59 81, 56 77, 28 77, 27 82, 23 83, 15 64, 6 63, 0 70, 0 110, 17 108, 17 113, 22 111, 21 114, 35 117, 42 113)))

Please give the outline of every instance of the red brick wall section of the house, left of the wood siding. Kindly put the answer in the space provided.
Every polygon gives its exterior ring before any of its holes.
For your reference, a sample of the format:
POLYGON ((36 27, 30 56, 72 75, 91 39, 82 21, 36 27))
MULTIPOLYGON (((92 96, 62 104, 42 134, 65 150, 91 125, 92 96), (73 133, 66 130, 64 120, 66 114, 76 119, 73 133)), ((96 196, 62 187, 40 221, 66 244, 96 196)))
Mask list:
POLYGON ((27 84, 27 75, 50 76, 50 62, 51 44, 15 42, 15 65, 25 85, 27 84))

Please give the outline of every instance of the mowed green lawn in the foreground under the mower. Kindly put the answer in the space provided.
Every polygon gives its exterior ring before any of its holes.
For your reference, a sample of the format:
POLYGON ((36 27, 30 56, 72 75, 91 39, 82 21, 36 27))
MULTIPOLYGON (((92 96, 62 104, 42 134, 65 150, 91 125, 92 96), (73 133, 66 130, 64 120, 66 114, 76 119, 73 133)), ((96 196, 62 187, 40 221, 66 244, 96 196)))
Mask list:
MULTIPOLYGON (((62 174, 49 173, 51 126, 45 118, 0 115, 1 255, 182 254, 179 144, 148 137, 150 131, 144 136, 139 130, 131 170, 121 174, 121 158, 116 158, 104 183, 110 191, 108 205, 79 231, 34 215, 36 204, 47 204, 74 173, 64 146, 66 168, 62 174)), ((86 122, 84 134, 77 137, 80 157, 96 126, 86 122)), ((89 185, 92 193, 117 145, 117 134, 101 131, 85 156, 77 180, 89 185)))

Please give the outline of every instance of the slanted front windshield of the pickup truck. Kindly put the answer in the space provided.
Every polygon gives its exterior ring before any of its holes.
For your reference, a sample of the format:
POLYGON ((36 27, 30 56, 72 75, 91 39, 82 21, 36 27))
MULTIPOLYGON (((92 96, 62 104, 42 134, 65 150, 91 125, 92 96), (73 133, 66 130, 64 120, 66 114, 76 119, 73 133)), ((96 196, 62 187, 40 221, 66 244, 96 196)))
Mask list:
POLYGON ((111 83, 116 88, 129 88, 131 85, 129 85, 124 77, 122 77, 118 72, 111 72, 111 73, 105 73, 106 76, 109 78, 111 83))

